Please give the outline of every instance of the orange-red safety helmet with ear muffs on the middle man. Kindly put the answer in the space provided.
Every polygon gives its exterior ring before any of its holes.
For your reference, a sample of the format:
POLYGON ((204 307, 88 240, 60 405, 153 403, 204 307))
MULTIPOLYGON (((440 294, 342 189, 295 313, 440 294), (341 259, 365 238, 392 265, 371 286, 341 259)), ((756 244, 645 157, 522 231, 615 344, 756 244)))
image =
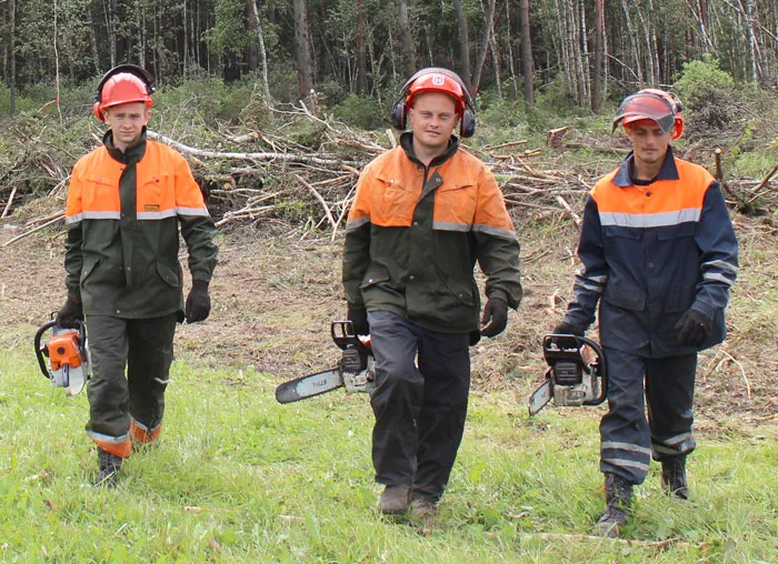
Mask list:
POLYGON ((476 104, 472 97, 459 74, 440 67, 421 69, 400 89, 400 94, 391 107, 391 124, 395 129, 406 129, 408 110, 413 108, 413 99, 425 92, 442 92, 451 97, 461 118, 460 135, 472 137, 476 132, 476 104))

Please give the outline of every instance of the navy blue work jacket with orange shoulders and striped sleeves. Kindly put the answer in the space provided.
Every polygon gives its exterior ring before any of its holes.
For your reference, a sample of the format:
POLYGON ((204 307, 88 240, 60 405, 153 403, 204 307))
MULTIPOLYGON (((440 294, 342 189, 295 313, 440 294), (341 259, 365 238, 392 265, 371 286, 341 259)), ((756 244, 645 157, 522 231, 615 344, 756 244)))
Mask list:
POLYGON ((738 243, 719 183, 668 148, 656 179, 630 178, 630 154, 587 198, 573 299, 563 322, 587 329, 599 302, 604 346, 674 356, 676 323, 695 309, 712 320, 700 346, 724 341, 724 311, 738 270, 738 243))

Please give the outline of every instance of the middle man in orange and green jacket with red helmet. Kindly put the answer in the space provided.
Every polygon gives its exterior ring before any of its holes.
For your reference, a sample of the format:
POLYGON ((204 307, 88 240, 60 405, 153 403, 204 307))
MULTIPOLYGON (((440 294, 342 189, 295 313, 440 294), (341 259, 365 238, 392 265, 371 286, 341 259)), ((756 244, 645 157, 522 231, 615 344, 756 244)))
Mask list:
POLYGON ((472 100, 446 69, 416 73, 392 109, 400 145, 362 172, 346 226, 349 319, 376 359, 372 461, 385 514, 437 511, 465 429, 469 344, 521 300, 519 242, 491 172, 453 135, 472 100), (480 314, 476 262, 487 276, 480 314), (418 364, 417 364, 418 356, 418 364))

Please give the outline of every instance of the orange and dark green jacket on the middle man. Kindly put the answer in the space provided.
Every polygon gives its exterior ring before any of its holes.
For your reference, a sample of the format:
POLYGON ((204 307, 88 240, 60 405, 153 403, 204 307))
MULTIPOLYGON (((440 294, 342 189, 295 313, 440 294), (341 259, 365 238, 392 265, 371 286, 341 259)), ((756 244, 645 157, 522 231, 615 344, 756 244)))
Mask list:
POLYGON ((487 298, 521 301, 516 230, 495 177, 457 138, 429 167, 412 139, 403 133, 360 175, 346 224, 346 300, 432 331, 476 331, 476 262, 487 298))

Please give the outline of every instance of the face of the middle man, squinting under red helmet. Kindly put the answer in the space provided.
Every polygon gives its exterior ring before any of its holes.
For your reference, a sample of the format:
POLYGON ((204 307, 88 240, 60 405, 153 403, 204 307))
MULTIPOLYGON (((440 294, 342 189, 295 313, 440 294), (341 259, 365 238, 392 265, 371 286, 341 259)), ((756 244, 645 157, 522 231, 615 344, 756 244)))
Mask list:
POLYGON ((409 119, 413 142, 429 152, 442 152, 459 123, 456 102, 442 92, 417 95, 409 119))

